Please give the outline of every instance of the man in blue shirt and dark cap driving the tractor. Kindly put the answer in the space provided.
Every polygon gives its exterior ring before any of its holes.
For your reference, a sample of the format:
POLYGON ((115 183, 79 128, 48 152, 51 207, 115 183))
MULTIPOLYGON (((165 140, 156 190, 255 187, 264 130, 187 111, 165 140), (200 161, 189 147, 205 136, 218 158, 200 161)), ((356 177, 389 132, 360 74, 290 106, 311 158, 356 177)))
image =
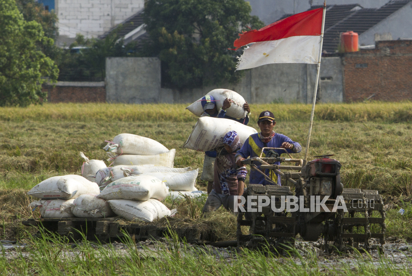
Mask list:
MULTIPOLYGON (((252 134, 249 136, 249 138, 245 141, 243 144, 242 148, 236 153, 236 164, 238 166, 242 165, 242 160, 245 160, 245 158, 250 157, 256 157, 260 156, 262 152, 262 148, 264 147, 280 147, 280 148, 285 148, 287 152, 289 153, 298 153, 302 150, 301 145, 298 142, 292 141, 290 138, 287 136, 284 136, 283 134, 278 134, 273 131, 273 128, 275 127, 276 122, 275 122, 275 115, 266 110, 263 111, 259 115, 259 120, 258 120, 258 126, 261 130, 260 133, 257 134, 252 134)), ((266 154, 268 154, 269 149, 265 149, 263 151, 262 157, 266 157, 266 154)), ((284 153, 284 150, 276 149, 275 150, 279 156, 280 154, 284 153)), ((262 165, 259 162, 254 162, 254 164, 260 169, 260 166, 262 165)), ((276 165, 279 165, 280 162, 275 162, 276 165)), ((280 175, 272 173, 270 175, 270 170, 265 170, 265 174, 269 176, 273 182, 277 183, 280 185, 280 175)), ((256 170, 251 170, 250 173, 250 178, 249 178, 249 183, 250 184, 262 184, 262 185, 273 185, 269 181, 266 180, 266 178, 257 172, 256 170)))

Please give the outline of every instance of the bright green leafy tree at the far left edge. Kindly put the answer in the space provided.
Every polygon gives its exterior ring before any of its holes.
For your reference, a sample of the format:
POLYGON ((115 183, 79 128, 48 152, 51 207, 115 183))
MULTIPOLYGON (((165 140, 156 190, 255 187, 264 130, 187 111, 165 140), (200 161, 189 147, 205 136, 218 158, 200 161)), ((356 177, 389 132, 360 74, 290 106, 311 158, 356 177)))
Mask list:
POLYGON ((36 21, 25 21, 15 0, 0 1, 0 106, 41 103, 42 83, 56 81, 59 69, 41 47, 53 39, 36 21))

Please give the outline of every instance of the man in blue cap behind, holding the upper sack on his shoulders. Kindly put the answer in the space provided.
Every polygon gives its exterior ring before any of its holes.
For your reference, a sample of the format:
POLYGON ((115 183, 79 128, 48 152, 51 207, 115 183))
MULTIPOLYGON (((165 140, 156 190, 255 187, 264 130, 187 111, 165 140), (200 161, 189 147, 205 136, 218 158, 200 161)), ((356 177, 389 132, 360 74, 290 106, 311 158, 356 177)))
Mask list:
MULTIPOLYGON (((247 125, 249 123, 249 116, 250 116, 250 107, 249 104, 246 102, 243 105, 243 109, 248 112, 245 118, 236 119, 226 115, 226 109, 228 109, 232 105, 232 101, 229 98, 226 98, 223 102, 222 108, 217 111, 216 101, 211 95, 206 95, 201 99, 202 107, 203 107, 203 114, 201 117, 209 116, 213 118, 224 118, 234 120, 236 122, 242 123, 247 125)), ((203 172, 201 179, 207 181, 207 193, 210 194, 213 185, 213 165, 214 160, 216 159, 216 151, 210 150, 205 151, 205 160, 203 162, 203 172)))

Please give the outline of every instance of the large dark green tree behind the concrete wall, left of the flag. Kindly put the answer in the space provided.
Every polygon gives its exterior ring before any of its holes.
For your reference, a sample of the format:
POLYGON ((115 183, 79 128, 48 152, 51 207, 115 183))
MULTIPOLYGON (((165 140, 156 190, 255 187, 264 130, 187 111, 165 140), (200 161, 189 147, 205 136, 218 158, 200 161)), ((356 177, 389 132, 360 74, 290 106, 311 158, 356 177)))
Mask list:
POLYGON ((172 87, 237 82, 233 42, 247 26, 263 23, 251 16, 245 0, 146 0, 144 23, 149 40, 142 54, 162 61, 162 79, 172 87))

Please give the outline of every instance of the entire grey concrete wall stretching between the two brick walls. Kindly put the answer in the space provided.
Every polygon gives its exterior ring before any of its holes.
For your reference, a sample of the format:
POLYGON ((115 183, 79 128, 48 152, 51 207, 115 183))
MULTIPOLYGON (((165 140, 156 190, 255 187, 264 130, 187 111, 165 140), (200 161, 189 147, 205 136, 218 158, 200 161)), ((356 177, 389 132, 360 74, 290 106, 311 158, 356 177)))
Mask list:
MULTIPOLYGON (((343 101, 343 69, 340 58, 323 58, 318 100, 343 101)), ((245 70, 237 84, 194 89, 168 89, 160 85, 160 61, 156 58, 107 58, 106 99, 125 103, 190 103, 210 90, 226 88, 249 103, 312 103, 316 65, 271 64, 245 70)))

